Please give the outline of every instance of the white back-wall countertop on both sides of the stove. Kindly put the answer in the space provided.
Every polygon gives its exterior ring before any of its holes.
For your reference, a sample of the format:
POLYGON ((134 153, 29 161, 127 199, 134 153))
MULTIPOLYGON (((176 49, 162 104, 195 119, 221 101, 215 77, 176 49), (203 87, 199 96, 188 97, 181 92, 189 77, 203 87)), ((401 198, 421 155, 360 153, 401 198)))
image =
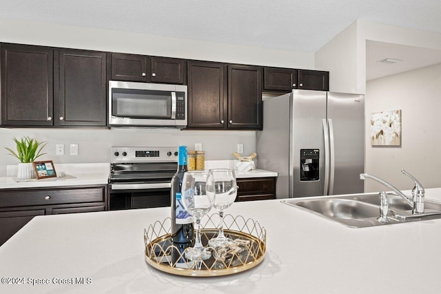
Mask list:
MULTIPOLYGON (((0 177, 0 189, 6 188, 41 188, 59 186, 105 185, 108 183, 110 164, 54 164, 57 175, 64 172, 71 177, 52 177, 48 179, 30 179, 18 181, 16 166, 8 166, 8 177, 0 177)), ((207 161, 205 168, 234 168, 234 161, 207 161)), ((277 177, 277 173, 268 170, 237 171, 236 177, 277 177)))

